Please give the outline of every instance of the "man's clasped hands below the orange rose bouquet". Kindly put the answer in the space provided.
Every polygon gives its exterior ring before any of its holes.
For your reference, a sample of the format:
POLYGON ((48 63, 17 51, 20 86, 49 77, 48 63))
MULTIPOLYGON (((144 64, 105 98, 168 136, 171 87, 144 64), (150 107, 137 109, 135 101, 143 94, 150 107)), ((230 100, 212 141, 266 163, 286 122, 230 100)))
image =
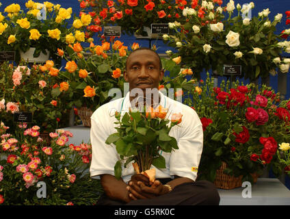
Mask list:
POLYGON ((168 188, 158 180, 155 180, 151 186, 142 181, 137 181, 137 183, 130 181, 127 190, 129 191, 129 197, 133 200, 154 198, 169 192, 168 188))

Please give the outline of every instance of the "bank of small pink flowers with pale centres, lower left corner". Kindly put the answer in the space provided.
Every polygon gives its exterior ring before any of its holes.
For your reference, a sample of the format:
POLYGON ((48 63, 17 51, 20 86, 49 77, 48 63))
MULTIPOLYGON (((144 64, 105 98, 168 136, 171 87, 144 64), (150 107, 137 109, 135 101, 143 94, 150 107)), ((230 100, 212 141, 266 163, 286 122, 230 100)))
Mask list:
POLYGON ((68 138, 72 137, 69 131, 51 133, 54 138, 50 146, 32 134, 33 127, 17 129, 18 140, 5 131, 1 132, 0 144, 1 205, 66 205, 69 202, 92 205, 96 202, 102 190, 88 172, 92 157, 90 144, 68 146, 68 138), (29 134, 24 135, 24 131, 29 134), (64 139, 65 144, 58 144, 59 139, 64 139), (5 150, 5 144, 10 144, 10 149, 5 150), (39 196, 38 190, 42 188, 45 191, 40 194, 45 196, 39 196))

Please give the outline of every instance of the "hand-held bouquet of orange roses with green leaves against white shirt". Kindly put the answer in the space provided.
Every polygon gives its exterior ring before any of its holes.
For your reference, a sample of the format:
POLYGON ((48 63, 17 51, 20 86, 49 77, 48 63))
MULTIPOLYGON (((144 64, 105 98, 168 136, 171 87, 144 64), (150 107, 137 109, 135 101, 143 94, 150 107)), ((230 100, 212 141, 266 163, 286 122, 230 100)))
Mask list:
POLYGON ((172 114, 171 119, 166 116, 167 110, 161 105, 155 108, 145 107, 142 112, 130 109, 124 115, 116 112, 116 124, 120 126, 116 127, 118 132, 111 134, 106 143, 114 143, 120 155, 120 160, 115 165, 117 179, 122 175, 123 161, 124 168, 134 162, 135 172, 144 173, 151 182, 155 180, 155 169, 150 170, 151 165, 166 168, 166 161, 159 151, 170 153, 179 149, 176 139, 169 136, 169 132, 172 127, 181 123, 182 115, 172 114))

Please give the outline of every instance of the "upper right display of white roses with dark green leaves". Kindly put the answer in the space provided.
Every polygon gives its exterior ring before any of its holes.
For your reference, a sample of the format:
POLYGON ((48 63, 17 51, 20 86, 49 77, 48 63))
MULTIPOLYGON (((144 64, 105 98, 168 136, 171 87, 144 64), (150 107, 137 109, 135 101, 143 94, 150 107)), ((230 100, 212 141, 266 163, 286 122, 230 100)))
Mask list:
POLYGON ((276 34, 282 14, 270 21, 267 9, 250 19, 252 2, 242 8, 234 1, 225 7, 223 1, 194 2, 185 5, 181 18, 171 23, 170 35, 163 36, 163 42, 177 50, 170 57, 181 56, 183 68, 194 69, 199 78, 203 70, 211 69, 222 76, 224 64, 239 65, 241 77, 252 81, 276 75, 277 68, 282 73, 289 71, 287 58, 282 58, 283 52, 290 51, 289 43, 282 38, 289 30, 276 34))

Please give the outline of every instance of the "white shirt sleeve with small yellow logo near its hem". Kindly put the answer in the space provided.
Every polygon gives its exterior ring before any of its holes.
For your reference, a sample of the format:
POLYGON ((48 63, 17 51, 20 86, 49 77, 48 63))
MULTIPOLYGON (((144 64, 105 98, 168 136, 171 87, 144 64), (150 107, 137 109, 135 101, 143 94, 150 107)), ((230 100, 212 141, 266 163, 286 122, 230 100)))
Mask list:
MULTIPOLYGON (((192 110, 192 109, 190 109, 192 110)), ((203 131, 200 119, 194 110, 187 117, 183 117, 181 127, 173 127, 179 139, 179 149, 172 152, 170 157, 170 175, 187 177, 196 180, 198 165, 202 154, 203 131)))

